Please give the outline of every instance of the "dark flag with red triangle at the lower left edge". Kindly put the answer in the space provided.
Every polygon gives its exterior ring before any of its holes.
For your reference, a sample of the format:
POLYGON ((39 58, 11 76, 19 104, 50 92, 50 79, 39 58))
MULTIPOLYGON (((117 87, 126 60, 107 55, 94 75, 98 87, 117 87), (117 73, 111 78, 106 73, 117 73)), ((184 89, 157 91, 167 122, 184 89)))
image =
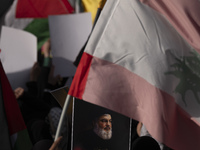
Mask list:
POLYGON ((29 139, 28 131, 24 123, 19 105, 14 92, 10 86, 3 66, 0 62, 0 83, 1 83, 1 148, 4 150, 30 150, 32 143, 29 139), (7 123, 7 124, 6 124, 7 123), (2 140, 4 139, 4 140, 2 140), (2 142, 5 141, 5 142, 2 142))

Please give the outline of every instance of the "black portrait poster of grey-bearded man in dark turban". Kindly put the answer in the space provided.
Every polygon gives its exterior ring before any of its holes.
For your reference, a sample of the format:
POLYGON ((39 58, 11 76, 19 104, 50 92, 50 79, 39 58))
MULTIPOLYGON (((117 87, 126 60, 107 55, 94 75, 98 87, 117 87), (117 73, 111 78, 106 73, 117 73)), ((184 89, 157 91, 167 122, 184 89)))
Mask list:
POLYGON ((130 150, 131 119, 106 108, 75 99, 72 150, 130 150))

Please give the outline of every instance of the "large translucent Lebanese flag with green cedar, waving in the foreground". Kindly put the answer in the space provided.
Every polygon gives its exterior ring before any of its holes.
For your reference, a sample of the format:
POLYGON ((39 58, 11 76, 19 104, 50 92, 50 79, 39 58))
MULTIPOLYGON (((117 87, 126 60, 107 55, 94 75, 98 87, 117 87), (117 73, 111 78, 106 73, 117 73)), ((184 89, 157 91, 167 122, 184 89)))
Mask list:
POLYGON ((141 121, 174 150, 198 150, 199 14, 198 0, 108 0, 69 95, 141 121))

